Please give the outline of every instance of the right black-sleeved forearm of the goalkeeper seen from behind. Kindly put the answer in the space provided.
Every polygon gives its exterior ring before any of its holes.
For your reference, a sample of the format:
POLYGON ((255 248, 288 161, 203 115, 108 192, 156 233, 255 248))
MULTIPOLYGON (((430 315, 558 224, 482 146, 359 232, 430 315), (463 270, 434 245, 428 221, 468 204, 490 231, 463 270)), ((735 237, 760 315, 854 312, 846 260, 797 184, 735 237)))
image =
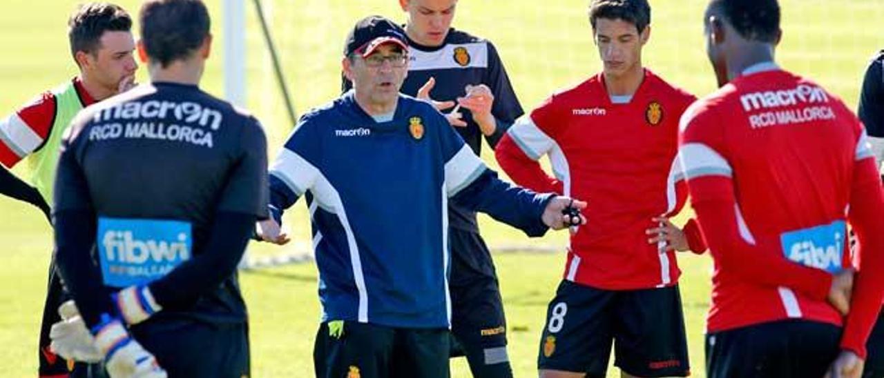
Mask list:
POLYGON ((190 260, 149 284, 156 303, 164 309, 191 306, 231 276, 246 250, 255 220, 255 215, 217 213, 202 253, 194 253, 190 260))

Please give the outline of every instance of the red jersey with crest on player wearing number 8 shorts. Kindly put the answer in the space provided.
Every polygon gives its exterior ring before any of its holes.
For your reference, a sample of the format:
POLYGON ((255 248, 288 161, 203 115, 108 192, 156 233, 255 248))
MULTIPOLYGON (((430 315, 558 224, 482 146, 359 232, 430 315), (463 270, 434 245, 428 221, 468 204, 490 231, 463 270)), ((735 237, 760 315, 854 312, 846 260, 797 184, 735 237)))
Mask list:
POLYGON ((696 98, 649 70, 628 103, 601 73, 552 95, 495 149, 519 185, 585 200, 588 223, 571 236, 565 278, 604 290, 673 285, 674 252, 648 243, 652 217, 674 215, 687 190, 674 165, 678 120, 696 98), (555 178, 537 160, 548 155, 555 178))

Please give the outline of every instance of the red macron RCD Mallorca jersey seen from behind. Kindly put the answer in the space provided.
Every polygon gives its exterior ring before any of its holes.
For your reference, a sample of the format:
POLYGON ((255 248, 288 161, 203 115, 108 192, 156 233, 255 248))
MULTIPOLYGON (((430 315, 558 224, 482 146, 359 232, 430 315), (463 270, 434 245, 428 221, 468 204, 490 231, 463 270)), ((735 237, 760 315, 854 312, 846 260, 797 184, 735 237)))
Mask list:
POLYGON ((682 166, 715 261, 710 332, 785 319, 842 324, 826 300, 830 280, 819 273, 850 267, 851 190, 880 186, 865 138, 840 99, 773 64, 685 113, 682 166), (727 185, 703 186, 716 183, 727 185), (728 193, 707 193, 715 187, 728 193), (733 199, 728 215, 712 217, 729 217, 721 221, 729 225, 707 230, 697 201, 720 198, 733 199), (736 240, 721 240, 727 228, 736 240), (768 273, 772 279, 762 277, 768 273))

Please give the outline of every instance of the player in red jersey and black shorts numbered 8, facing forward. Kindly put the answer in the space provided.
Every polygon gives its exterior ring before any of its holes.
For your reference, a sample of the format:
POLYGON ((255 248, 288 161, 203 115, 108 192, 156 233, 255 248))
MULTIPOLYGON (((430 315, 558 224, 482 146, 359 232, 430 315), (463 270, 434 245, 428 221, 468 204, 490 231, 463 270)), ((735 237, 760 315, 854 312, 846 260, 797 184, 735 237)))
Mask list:
POLYGON ((624 376, 686 376, 674 249, 705 246, 696 223, 685 238, 667 216, 686 200, 674 163, 678 119, 695 97, 643 67, 646 1, 597 0, 590 19, 604 71, 520 118, 495 150, 516 183, 589 202, 589 223, 571 237, 564 280, 549 305, 540 374, 604 377, 616 340, 624 376), (543 155, 556 178, 537 163, 543 155), (664 235, 649 240, 648 231, 664 235))

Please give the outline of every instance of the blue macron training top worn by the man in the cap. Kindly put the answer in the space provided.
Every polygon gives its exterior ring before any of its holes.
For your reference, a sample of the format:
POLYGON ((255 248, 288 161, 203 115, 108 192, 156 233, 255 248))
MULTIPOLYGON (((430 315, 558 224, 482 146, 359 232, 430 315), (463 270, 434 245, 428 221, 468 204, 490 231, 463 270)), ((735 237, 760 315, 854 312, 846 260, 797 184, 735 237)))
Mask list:
POLYGON ((377 122, 353 91, 301 117, 271 165, 271 212, 306 195, 324 321, 449 326, 447 202, 529 235, 550 195, 500 181, 429 103, 377 122))

